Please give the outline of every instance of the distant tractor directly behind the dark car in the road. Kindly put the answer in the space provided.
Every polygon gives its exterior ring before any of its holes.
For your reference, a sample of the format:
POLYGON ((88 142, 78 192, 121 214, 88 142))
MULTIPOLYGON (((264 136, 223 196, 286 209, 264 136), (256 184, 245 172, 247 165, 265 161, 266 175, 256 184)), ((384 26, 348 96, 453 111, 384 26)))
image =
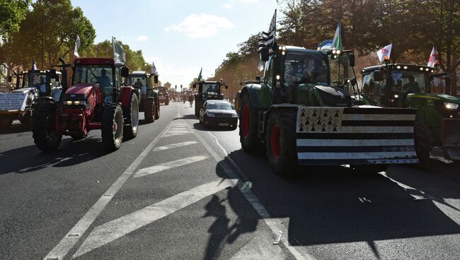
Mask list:
POLYGON ((222 94, 221 88, 229 88, 228 85, 222 81, 200 81, 193 83, 193 88, 197 88, 198 91, 195 93, 195 116, 200 116, 200 108, 205 104, 206 100, 223 100, 224 94, 222 94))

